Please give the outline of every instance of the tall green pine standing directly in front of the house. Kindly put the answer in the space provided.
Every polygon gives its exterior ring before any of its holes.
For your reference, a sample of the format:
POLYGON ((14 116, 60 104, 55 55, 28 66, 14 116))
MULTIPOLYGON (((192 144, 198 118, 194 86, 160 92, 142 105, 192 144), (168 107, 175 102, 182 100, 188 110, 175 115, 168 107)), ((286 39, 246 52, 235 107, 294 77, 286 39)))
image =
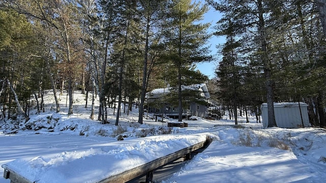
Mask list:
POLYGON ((208 11, 208 6, 193 3, 191 0, 175 0, 171 2, 169 8, 169 18, 165 25, 167 28, 165 44, 168 54, 166 58, 177 69, 178 120, 182 121, 182 85, 184 79, 188 77, 187 71, 194 64, 211 59, 208 55, 209 49, 204 46, 210 37, 207 33, 210 24, 199 23, 208 11))

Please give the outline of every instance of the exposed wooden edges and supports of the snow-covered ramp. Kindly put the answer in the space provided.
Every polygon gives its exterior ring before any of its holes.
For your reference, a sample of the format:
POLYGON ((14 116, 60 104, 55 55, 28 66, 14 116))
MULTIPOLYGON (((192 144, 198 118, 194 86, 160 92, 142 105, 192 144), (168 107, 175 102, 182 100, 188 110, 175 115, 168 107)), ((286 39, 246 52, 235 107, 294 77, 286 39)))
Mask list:
MULTIPOLYGON (((153 160, 146 164, 132 168, 130 170, 126 170, 122 173, 118 173, 118 174, 106 177, 97 182, 122 183, 122 182, 132 180, 133 178, 139 177, 141 175, 146 175, 146 182, 152 182, 153 173, 154 173, 155 169, 157 169, 161 166, 164 166, 170 162, 173 162, 179 158, 182 158, 184 156, 186 156, 186 159, 191 159, 191 153, 193 151, 195 151, 199 148, 203 148, 204 146, 207 146, 208 144, 210 144, 210 142, 211 142, 211 139, 207 136, 205 141, 202 141, 202 142, 199 142, 192 146, 175 151, 174 153, 172 153, 170 155, 158 158, 156 160, 153 160)), ((85 166, 87 166, 87 165, 85 165, 85 166)), ((34 183, 34 182, 37 183, 36 181, 31 181, 28 178, 20 175, 17 171, 11 169, 10 167, 8 167, 6 165, 2 165, 2 167, 5 169, 4 177, 6 179, 10 179, 11 183, 34 183)))

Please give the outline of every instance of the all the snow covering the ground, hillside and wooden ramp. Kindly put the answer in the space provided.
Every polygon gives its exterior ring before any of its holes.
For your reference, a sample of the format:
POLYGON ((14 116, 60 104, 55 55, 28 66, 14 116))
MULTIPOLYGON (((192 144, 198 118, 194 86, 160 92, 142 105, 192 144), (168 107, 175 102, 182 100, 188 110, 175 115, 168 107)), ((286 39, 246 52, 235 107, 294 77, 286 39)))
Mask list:
MULTIPOLYGON (((30 130, 8 134, 15 121, 0 121, 0 165, 37 182, 95 182, 196 144, 209 136, 213 142, 174 174, 155 182, 320 182, 326 178, 326 132, 318 128, 263 128, 254 116, 235 126, 233 120, 187 120, 187 128, 167 128, 148 116, 137 123, 138 109, 121 113, 119 127, 89 119, 84 95, 74 94, 74 114, 31 110, 30 130), (37 131, 35 131, 37 130, 37 131), (164 134, 167 133, 167 134, 164 134), (80 135, 84 134, 84 135, 80 135), (119 135, 124 140, 118 141, 119 135)), ((64 98, 64 97, 62 97, 64 98)), ((90 102, 89 102, 90 104, 90 102)), ((115 111, 117 112, 117 111, 115 111)), ((174 122, 175 119, 165 119, 174 122)), ((23 124, 23 123, 22 123, 23 124)), ((22 128, 22 126, 15 126, 22 128)), ((4 169, 0 170, 3 174, 4 169)), ((154 172, 155 174, 155 172, 154 172)), ((0 182, 10 182, 0 177, 0 182)))

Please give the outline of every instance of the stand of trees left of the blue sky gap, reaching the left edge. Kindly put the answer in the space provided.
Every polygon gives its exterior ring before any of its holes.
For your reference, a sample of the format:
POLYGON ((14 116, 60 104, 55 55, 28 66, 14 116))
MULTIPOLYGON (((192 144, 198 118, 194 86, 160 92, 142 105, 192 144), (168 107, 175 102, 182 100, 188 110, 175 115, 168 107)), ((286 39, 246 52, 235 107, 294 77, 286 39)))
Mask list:
POLYGON ((146 92, 166 82, 179 92, 181 114, 181 85, 207 80, 195 71, 196 63, 212 59, 205 47, 210 24, 200 23, 207 11, 208 5, 191 0, 1 0, 3 115, 18 112, 28 120, 31 96, 44 111, 48 89, 56 112, 67 90, 72 114, 73 91, 80 89, 92 99, 90 118, 96 96, 103 124, 108 107, 120 111, 135 99, 142 124, 146 92))

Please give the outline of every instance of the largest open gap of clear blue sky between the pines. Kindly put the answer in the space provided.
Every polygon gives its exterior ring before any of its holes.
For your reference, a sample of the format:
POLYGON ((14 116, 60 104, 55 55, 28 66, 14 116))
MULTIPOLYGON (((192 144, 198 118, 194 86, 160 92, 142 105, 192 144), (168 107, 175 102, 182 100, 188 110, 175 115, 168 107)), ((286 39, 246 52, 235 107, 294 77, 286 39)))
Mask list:
MULTIPOLYGON (((203 0, 202 2, 204 3, 203 0)), ((222 15, 218 11, 215 11, 213 8, 210 7, 210 10, 205 14, 205 18, 203 20, 204 23, 211 23, 209 32, 214 32, 214 29, 212 27, 216 24, 217 21, 219 21, 221 17, 222 15)), ((197 64, 197 69, 200 70, 203 74, 207 75, 210 79, 215 77, 215 69, 218 65, 218 61, 220 60, 220 56, 217 55, 216 45, 223 43, 225 43, 225 38, 212 36, 209 39, 208 45, 210 46, 211 54, 215 57, 215 60, 210 63, 197 64)))

